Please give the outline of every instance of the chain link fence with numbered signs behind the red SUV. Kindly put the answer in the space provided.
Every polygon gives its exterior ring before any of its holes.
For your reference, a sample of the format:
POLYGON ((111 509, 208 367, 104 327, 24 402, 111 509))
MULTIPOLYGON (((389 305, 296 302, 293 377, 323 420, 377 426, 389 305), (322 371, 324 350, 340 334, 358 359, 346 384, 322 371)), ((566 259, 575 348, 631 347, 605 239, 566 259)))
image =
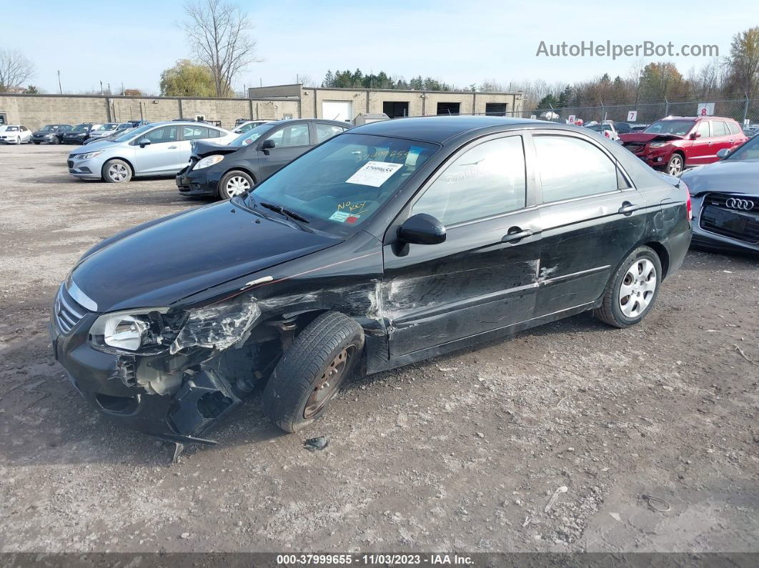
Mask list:
POLYGON ((687 101, 669 102, 666 99, 660 102, 644 102, 628 105, 604 105, 597 106, 567 106, 563 108, 538 108, 534 111, 506 112, 505 116, 515 118, 540 118, 553 122, 567 122, 574 116, 587 124, 591 121, 601 122, 604 120, 614 122, 627 122, 633 126, 652 124, 666 116, 698 116, 712 115, 734 118, 738 124, 759 123, 759 99, 732 99, 722 101, 687 101), (707 105, 704 107, 703 103, 707 105), (634 120, 630 120, 630 113, 635 112, 634 120))

